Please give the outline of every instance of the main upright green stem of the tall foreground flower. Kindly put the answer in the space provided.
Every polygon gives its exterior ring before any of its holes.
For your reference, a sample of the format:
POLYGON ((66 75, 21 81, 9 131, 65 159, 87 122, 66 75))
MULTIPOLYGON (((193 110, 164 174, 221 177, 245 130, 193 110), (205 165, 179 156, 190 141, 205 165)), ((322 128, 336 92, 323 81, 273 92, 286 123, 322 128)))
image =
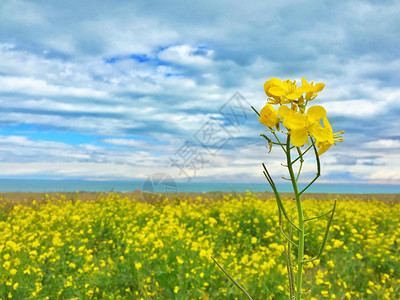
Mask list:
POLYGON ((299 247, 297 250, 297 274, 296 274, 296 300, 301 299, 302 281, 303 281, 303 265, 304 265, 304 213, 300 199, 299 189, 297 186, 296 176, 293 171, 292 160, 290 157, 290 135, 286 141, 286 158, 287 167, 292 181, 293 192, 296 199, 297 213, 299 216, 299 247))

